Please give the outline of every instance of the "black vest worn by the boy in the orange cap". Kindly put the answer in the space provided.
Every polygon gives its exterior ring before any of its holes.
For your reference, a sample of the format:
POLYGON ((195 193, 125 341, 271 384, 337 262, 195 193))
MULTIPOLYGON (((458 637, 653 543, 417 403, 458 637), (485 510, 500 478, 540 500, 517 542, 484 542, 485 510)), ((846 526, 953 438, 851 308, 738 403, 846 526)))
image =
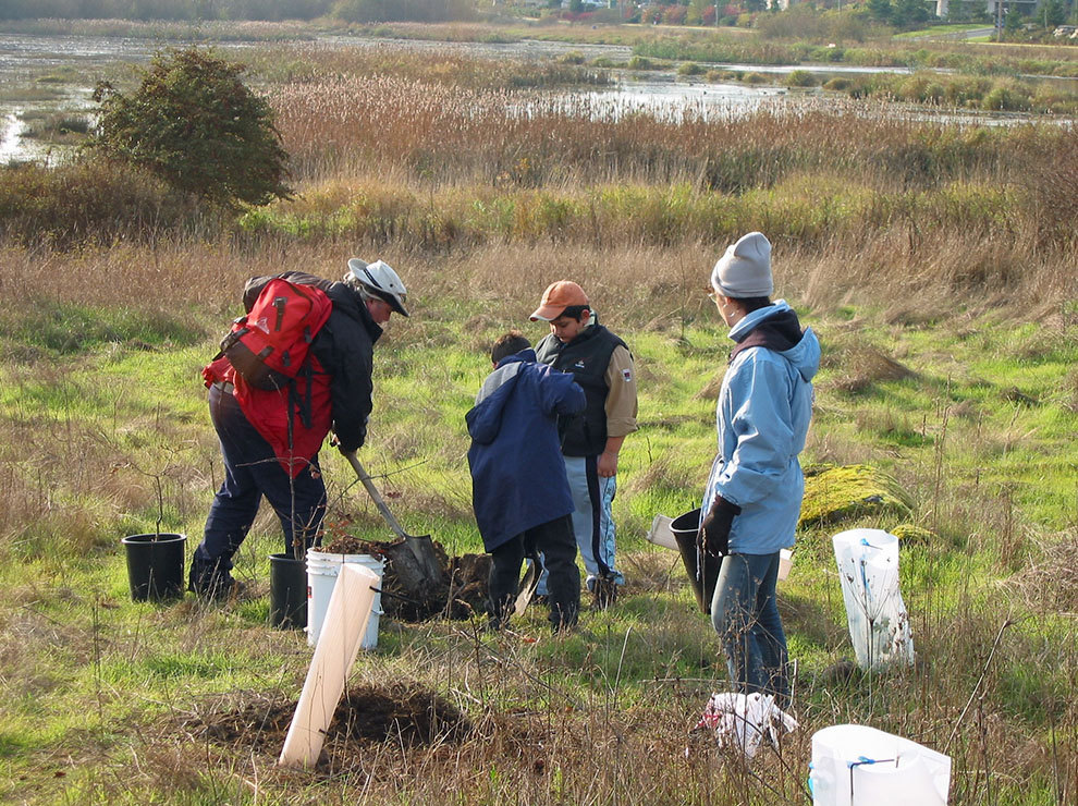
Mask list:
POLYGON ((607 367, 614 347, 628 346, 602 325, 585 329, 568 344, 553 333, 536 347, 540 363, 572 373, 588 401, 583 415, 561 417, 558 428, 566 456, 598 456, 607 450, 607 367))

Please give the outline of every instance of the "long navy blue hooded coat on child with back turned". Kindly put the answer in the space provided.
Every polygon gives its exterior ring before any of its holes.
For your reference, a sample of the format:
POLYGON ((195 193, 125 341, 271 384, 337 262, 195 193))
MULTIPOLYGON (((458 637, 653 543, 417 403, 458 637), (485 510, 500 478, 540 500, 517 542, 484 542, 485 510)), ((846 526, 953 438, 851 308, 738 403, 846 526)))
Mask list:
POLYGON ((487 551, 573 512, 556 417, 583 412, 573 376, 536 363, 524 350, 483 381, 465 415, 471 448, 471 503, 487 551))

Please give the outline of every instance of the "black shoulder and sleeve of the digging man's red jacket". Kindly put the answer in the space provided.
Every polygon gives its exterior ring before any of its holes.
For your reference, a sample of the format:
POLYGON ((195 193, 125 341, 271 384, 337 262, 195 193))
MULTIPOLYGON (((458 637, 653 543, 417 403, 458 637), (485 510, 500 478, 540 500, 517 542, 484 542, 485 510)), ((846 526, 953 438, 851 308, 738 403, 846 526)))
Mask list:
MULTIPOLYGON (((359 292, 348 285, 302 271, 286 271, 279 277, 297 285, 315 285, 333 303, 333 313, 315 337, 311 353, 321 371, 329 376, 330 415, 341 451, 355 451, 367 438, 367 418, 372 406, 370 376, 375 342, 382 329, 370 317, 359 292)), ((271 279, 254 277, 247 281, 244 288, 246 309, 250 309, 262 286, 271 279)), ((318 420, 318 414, 314 412, 313 419, 318 420)), ((323 432, 319 444, 324 437, 323 432)))

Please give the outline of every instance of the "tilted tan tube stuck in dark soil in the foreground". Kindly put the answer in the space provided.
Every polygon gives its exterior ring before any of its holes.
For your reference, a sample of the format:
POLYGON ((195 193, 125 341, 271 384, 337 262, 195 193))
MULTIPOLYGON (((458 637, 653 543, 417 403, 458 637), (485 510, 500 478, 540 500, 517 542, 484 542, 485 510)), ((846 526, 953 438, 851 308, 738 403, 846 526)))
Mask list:
POLYGON ((363 643, 377 587, 378 575, 370 569, 341 567, 279 765, 313 767, 318 760, 333 712, 344 694, 348 671, 363 643))

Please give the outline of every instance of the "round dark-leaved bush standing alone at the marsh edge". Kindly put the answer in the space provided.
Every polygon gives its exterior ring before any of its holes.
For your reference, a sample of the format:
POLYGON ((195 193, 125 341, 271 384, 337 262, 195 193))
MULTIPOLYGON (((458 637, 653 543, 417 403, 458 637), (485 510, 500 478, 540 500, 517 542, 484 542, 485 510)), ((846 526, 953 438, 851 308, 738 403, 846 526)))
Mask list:
POLYGON ((90 146, 225 207, 287 198, 289 156, 273 110, 243 83, 243 71, 197 48, 158 53, 130 96, 98 84, 90 146))

